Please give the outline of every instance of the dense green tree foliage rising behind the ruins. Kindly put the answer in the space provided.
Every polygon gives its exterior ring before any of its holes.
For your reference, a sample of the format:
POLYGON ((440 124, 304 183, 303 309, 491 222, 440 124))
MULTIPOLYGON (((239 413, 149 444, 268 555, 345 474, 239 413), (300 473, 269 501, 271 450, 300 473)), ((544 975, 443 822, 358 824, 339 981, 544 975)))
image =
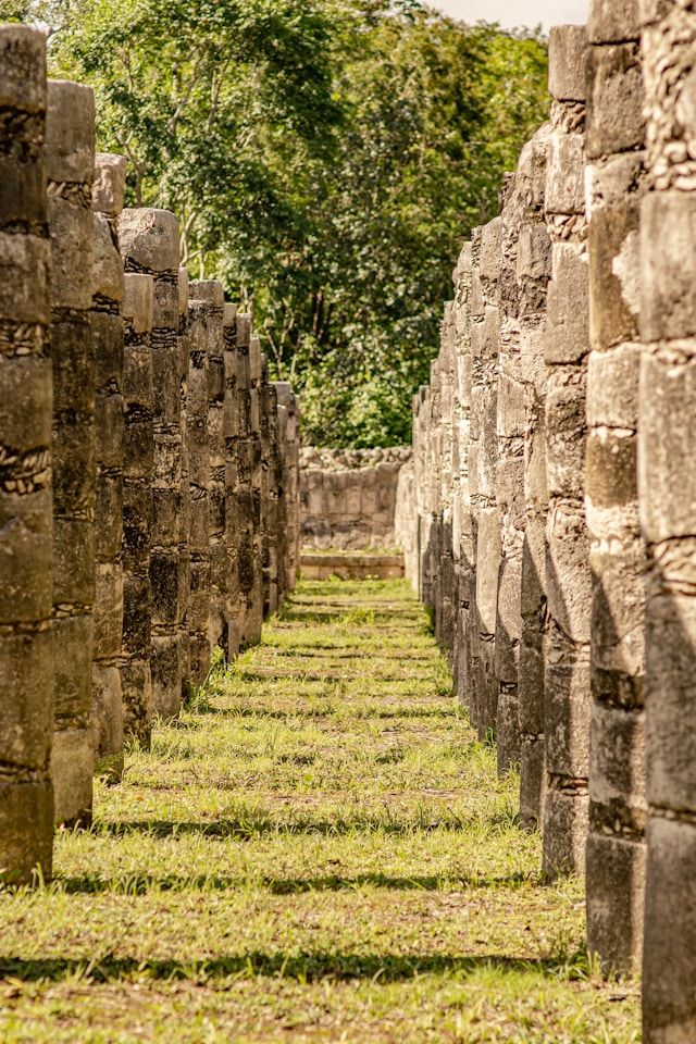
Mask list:
POLYGON ((15 7, 94 85, 130 201, 174 210, 191 273, 253 311, 304 437, 408 440, 461 241, 548 109, 539 35, 418 0, 15 7))

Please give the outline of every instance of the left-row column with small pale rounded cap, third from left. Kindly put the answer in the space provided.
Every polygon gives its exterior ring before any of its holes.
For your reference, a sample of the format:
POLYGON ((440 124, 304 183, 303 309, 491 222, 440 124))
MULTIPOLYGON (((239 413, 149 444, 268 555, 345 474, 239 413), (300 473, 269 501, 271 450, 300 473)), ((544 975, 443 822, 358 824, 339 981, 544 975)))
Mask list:
POLYGON ((95 349, 95 770, 123 775, 123 696, 119 658, 123 632, 123 264, 116 219, 123 210, 126 162, 98 153, 92 194, 91 336, 95 349))

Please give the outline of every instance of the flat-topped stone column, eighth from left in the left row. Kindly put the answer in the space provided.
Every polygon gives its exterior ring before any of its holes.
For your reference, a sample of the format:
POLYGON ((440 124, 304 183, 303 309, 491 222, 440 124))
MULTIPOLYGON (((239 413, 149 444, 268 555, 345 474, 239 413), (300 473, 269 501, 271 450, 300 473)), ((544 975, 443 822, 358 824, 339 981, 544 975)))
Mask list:
POLYGON ((208 353, 208 452, 209 452, 209 542, 211 649, 227 649, 228 568, 225 540, 225 358, 223 310, 225 293, 214 279, 194 282, 194 301, 206 303, 208 353))

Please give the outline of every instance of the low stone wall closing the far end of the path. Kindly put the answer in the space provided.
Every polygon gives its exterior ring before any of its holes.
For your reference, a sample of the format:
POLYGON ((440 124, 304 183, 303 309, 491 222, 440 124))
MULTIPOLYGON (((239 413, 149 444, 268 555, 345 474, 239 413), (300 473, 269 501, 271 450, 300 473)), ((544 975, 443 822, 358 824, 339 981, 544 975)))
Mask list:
POLYGON ((300 539, 325 550, 391 548, 406 446, 300 450, 300 539))

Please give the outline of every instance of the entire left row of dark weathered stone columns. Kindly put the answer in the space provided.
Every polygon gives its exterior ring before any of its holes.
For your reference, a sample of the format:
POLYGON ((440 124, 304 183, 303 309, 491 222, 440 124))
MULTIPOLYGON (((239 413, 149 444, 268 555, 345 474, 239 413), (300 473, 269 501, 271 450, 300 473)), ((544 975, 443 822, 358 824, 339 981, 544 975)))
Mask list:
POLYGON ((293 588, 299 411, 175 215, 124 209, 40 33, 0 28, 0 875, 26 881, 293 588))

